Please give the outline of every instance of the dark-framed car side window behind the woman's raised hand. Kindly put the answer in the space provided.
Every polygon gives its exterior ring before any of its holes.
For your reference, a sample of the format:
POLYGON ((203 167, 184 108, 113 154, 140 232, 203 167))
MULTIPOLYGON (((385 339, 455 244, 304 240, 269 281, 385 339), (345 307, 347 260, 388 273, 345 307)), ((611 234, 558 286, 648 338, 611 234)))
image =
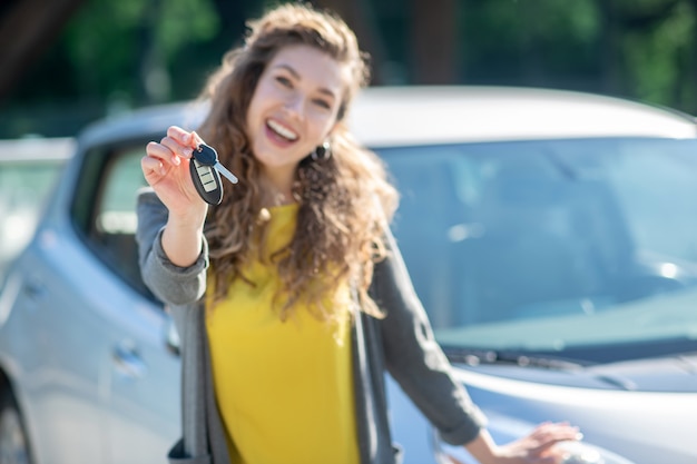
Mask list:
POLYGON ((135 240, 136 197, 146 186, 145 142, 92 149, 86 155, 72 205, 73 224, 95 255, 127 285, 155 297, 143 284, 135 240))

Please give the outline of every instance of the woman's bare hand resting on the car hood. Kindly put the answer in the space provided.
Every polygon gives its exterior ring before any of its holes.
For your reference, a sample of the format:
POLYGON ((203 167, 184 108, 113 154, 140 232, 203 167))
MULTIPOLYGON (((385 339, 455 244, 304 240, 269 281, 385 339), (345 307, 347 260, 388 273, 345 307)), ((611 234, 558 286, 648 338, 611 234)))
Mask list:
POLYGON ((554 446, 581 438, 578 427, 568 423, 542 423, 514 442, 495 445, 487 431, 467 445, 482 464, 561 464, 565 451, 554 446))

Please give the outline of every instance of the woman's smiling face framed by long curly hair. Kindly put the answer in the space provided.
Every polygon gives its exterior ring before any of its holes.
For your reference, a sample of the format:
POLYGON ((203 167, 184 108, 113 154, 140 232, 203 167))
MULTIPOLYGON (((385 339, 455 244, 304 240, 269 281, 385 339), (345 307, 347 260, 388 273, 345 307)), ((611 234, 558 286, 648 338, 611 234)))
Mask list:
POLYGON ((297 164, 327 138, 346 73, 338 61, 303 45, 281 49, 266 66, 247 110, 247 136, 268 178, 291 181, 297 164))

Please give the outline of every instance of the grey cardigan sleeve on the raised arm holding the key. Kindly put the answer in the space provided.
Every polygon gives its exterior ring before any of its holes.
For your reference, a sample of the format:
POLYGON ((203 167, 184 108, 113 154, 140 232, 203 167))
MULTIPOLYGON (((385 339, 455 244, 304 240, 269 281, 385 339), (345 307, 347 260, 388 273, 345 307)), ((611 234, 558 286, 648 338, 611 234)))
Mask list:
POLYGON ((167 208, 149 188, 138 194, 137 216, 138 261, 144 283, 157 298, 169 305, 190 305, 206 290, 208 245, 204 238, 202 253, 188 267, 173 264, 161 245, 167 224, 167 208))

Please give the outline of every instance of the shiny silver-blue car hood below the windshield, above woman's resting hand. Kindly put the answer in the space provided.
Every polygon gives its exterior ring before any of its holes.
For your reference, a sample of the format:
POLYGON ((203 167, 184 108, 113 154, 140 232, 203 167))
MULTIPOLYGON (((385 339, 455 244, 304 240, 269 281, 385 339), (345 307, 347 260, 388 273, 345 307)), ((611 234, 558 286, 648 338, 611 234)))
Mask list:
POLYGON ((694 464, 695 355, 592 367, 457 364, 454 377, 487 417, 569 422, 585 441, 637 464, 694 464))

